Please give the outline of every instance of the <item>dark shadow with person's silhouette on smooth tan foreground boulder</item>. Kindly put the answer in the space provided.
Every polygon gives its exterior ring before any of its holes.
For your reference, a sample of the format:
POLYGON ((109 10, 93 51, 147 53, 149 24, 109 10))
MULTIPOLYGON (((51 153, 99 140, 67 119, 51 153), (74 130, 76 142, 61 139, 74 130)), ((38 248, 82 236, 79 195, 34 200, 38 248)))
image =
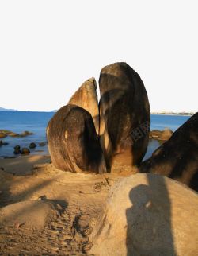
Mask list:
POLYGON ((147 184, 129 192, 127 255, 177 256, 171 228, 171 201, 165 178, 147 174, 147 184))

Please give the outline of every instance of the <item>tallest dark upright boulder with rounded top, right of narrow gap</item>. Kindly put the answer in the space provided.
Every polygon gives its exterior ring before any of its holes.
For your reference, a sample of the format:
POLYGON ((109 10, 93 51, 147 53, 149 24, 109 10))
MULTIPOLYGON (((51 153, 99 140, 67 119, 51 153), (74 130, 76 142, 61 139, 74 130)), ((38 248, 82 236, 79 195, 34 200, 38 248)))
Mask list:
POLYGON ((100 140, 112 165, 139 165, 147 150, 150 106, 143 81, 128 64, 102 68, 99 86, 100 140))

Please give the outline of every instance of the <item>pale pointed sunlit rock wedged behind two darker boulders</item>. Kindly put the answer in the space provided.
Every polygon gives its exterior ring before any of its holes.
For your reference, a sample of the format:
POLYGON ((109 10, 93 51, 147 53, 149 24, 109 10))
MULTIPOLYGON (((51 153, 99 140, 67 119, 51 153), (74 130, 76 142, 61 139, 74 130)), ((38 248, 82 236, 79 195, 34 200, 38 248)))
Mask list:
POLYGON ((82 86, 79 87, 78 91, 76 91, 70 98, 68 104, 77 105, 88 111, 93 118, 93 122, 98 134, 99 108, 97 101, 97 83, 93 77, 86 80, 85 83, 82 83, 82 86))

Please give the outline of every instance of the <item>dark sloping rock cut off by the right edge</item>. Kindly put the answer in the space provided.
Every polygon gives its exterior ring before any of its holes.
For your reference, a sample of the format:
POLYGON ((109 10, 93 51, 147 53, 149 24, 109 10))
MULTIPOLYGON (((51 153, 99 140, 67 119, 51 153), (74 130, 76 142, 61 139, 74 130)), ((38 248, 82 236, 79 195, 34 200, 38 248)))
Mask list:
POLYGON ((198 191, 198 112, 141 165, 142 173, 158 173, 198 191))

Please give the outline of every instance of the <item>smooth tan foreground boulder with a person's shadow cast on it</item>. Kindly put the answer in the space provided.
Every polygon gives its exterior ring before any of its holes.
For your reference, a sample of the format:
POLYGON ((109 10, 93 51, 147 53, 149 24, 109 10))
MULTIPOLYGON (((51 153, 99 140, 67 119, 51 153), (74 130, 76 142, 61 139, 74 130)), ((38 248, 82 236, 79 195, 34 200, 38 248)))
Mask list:
POLYGON ((161 175, 135 174, 110 193, 93 233, 90 254, 197 255, 198 196, 161 175))

